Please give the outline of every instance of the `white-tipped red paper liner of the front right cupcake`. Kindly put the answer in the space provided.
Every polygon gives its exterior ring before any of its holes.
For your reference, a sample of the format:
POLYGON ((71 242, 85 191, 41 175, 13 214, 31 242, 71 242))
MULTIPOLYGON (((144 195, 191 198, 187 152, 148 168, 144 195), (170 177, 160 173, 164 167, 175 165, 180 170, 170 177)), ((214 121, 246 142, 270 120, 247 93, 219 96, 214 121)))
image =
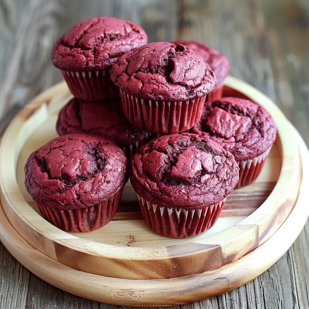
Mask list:
POLYGON ((217 221, 225 199, 202 209, 160 207, 136 194, 147 226, 158 234, 185 238, 210 229, 217 221))

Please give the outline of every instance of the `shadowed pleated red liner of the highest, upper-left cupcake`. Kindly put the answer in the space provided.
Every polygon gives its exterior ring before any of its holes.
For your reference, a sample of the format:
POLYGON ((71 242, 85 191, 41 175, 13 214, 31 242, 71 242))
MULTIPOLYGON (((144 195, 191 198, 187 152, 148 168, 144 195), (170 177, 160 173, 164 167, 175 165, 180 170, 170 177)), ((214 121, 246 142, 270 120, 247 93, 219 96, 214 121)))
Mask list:
POLYGON ((110 78, 110 69, 95 71, 63 71, 71 93, 78 99, 98 101, 119 97, 119 88, 110 78))

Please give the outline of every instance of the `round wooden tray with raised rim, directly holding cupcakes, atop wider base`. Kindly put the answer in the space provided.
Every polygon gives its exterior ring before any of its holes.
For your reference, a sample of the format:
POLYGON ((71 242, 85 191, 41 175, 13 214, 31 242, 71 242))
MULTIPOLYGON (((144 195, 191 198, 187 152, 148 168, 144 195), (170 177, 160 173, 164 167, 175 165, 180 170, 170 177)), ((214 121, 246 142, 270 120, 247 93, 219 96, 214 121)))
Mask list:
POLYGON ((200 235, 173 239, 150 231, 128 184, 112 222, 90 233, 69 234, 45 221, 25 190, 30 153, 57 136, 57 112, 71 95, 60 83, 44 91, 12 120, 0 146, 0 193, 15 230, 45 256, 85 273, 120 279, 176 278, 218 269, 251 252, 282 225, 301 180, 295 134, 286 117, 260 91, 226 79, 226 95, 248 97, 273 116, 278 137, 259 178, 235 190, 216 225, 200 235))

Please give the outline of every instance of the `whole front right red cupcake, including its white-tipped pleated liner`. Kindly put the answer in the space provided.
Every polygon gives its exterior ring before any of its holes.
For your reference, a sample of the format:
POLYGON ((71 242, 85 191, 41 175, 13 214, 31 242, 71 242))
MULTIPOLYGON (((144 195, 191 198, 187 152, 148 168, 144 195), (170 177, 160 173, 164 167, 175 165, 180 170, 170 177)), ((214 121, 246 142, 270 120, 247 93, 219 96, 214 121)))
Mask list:
POLYGON ((131 161, 130 180, 144 220, 165 236, 189 237, 211 228, 238 179, 231 153, 191 133, 160 136, 131 161))

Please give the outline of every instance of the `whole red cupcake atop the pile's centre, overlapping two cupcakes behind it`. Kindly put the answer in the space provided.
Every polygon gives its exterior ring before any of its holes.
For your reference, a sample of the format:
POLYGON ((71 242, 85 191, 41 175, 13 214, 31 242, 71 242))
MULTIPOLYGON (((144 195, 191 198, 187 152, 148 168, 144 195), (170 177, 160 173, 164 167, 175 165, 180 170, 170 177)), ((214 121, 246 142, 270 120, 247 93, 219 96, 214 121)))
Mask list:
POLYGON ((125 116, 138 129, 170 134, 188 130, 201 117, 215 85, 210 66, 181 44, 151 43, 133 49, 112 66, 125 116))

